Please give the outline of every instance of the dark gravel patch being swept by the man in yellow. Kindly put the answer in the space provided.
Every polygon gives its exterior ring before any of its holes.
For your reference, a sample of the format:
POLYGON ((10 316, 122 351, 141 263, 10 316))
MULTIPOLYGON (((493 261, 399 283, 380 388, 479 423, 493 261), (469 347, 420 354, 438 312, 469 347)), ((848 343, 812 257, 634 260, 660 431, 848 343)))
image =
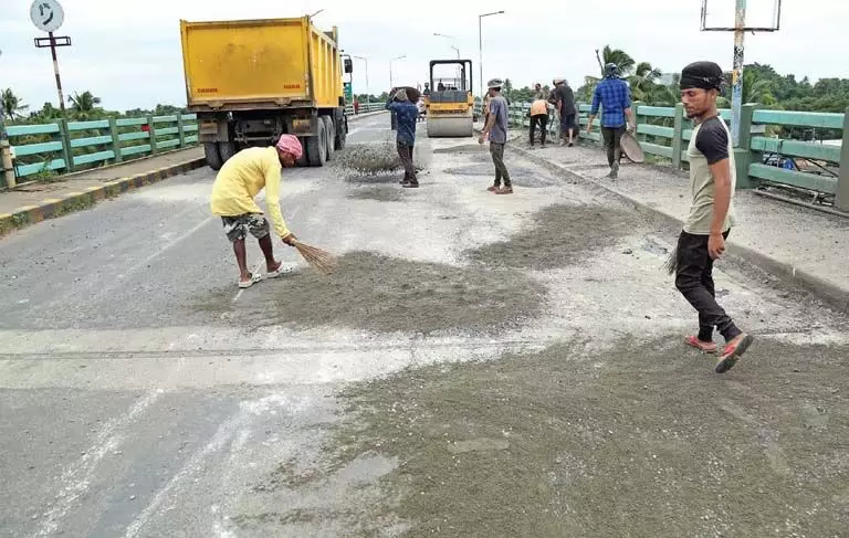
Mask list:
POLYGON ((509 270, 411 262, 371 252, 339 259, 331 275, 304 270, 262 282, 233 303, 221 296, 196 310, 249 328, 342 325, 381 333, 495 333, 537 316, 546 288, 509 270))

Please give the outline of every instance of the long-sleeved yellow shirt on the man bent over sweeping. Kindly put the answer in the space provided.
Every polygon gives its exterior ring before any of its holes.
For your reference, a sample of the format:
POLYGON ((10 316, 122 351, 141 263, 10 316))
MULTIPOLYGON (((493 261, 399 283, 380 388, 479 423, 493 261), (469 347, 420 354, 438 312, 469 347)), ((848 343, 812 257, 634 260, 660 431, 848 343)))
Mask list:
POLYGON ((253 200, 265 189, 265 207, 277 235, 290 234, 280 212, 280 176, 283 167, 273 147, 248 148, 232 156, 216 177, 209 207, 212 214, 238 217, 262 213, 253 200))

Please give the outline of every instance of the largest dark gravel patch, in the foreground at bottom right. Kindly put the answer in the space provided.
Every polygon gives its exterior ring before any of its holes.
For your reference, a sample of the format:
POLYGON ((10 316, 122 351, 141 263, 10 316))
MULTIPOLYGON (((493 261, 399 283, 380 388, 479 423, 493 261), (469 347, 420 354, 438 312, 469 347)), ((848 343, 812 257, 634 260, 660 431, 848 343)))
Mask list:
POLYGON ((564 342, 342 393, 326 466, 381 482, 401 536, 842 536, 849 347, 756 340, 725 376, 680 335, 564 342), (398 500, 398 496, 400 499, 398 500))

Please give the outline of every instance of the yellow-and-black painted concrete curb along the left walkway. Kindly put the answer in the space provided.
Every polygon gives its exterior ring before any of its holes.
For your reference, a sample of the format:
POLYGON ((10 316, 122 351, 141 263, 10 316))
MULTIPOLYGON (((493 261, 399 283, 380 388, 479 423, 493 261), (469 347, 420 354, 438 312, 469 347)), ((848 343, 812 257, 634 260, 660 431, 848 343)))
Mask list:
POLYGON ((106 181, 101 186, 88 187, 82 192, 69 192, 62 198, 49 198, 38 205, 18 208, 11 214, 0 214, 0 236, 48 219, 55 219, 74 211, 88 209, 101 200, 114 198, 129 190, 156 183, 166 178, 186 173, 205 166, 207 166, 206 159, 191 159, 115 181, 106 181))

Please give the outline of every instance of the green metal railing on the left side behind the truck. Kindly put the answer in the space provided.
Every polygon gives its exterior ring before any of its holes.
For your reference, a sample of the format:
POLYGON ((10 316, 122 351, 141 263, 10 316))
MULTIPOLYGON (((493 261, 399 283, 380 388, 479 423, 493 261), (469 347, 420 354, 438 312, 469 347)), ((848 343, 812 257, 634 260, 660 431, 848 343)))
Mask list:
POLYGON ((198 143, 197 131, 195 114, 7 126, 19 180, 185 148, 198 143))

